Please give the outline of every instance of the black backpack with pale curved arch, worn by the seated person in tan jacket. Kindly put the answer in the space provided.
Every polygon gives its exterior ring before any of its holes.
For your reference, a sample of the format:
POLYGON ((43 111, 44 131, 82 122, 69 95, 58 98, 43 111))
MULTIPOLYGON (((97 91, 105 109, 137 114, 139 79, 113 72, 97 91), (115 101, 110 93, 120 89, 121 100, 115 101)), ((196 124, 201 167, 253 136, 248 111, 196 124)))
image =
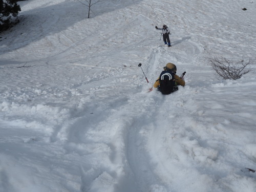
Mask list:
POLYGON ((168 95, 175 90, 175 79, 174 79, 174 73, 170 71, 162 71, 159 77, 160 86, 158 90, 163 95, 168 95))

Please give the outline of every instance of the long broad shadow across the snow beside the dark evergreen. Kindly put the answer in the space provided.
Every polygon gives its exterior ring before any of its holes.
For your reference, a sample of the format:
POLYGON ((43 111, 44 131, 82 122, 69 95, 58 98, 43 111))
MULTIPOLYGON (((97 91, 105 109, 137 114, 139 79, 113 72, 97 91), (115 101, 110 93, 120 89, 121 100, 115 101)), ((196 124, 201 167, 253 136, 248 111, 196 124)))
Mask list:
MULTIPOLYGON (((141 1, 99 2, 91 7, 90 16, 99 16, 133 4, 138 4, 141 1)), ((0 34, 3 39, 0 41, 0 55, 25 47, 48 35, 66 30, 81 20, 88 19, 88 8, 78 1, 69 1, 29 11, 22 11, 19 15, 20 22, 9 31, 4 31, 0 34)))

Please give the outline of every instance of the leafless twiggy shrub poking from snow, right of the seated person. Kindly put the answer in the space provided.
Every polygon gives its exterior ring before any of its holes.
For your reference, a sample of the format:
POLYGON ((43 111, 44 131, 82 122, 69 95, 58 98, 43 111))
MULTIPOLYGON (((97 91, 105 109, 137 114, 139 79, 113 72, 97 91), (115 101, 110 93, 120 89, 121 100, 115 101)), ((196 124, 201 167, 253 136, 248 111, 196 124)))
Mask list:
POLYGON ((256 58, 249 59, 247 61, 242 58, 236 62, 228 60, 225 57, 207 56, 207 64, 216 71, 218 75, 224 79, 239 79, 242 75, 249 73, 253 70, 252 64, 256 61, 256 58))

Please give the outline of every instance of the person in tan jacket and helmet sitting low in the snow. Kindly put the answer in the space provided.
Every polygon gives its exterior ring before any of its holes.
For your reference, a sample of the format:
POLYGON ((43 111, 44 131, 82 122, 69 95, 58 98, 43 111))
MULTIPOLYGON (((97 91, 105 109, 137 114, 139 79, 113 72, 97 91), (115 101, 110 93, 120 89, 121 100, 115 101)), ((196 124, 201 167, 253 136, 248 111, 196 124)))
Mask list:
MULTIPOLYGON (((184 78, 176 75, 177 68, 174 63, 168 62, 163 69, 164 70, 154 83, 154 88, 157 88, 162 94, 167 95, 177 91, 177 86, 185 86, 184 78)), ((149 91, 152 90, 153 88, 149 91)))

